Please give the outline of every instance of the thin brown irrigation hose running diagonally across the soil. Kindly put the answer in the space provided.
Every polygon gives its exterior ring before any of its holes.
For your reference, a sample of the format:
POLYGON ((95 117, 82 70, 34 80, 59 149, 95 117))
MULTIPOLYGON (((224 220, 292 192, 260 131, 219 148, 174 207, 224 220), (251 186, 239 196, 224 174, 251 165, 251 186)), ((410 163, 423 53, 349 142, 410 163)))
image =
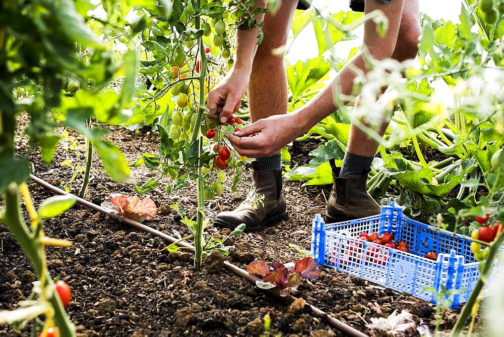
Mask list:
MULTIPOLYGON (((160 239, 163 239, 164 241, 166 242, 169 242, 169 243, 175 243, 177 242, 178 240, 170 235, 167 235, 163 232, 160 232, 160 231, 157 231, 155 229, 153 229, 152 227, 149 227, 149 226, 146 226, 145 224, 142 224, 140 222, 137 222, 135 220, 132 220, 132 219, 129 219, 129 218, 125 218, 125 217, 122 217, 122 216, 118 216, 116 214, 112 214, 108 211, 106 211, 105 209, 101 208, 101 206, 98 206, 90 201, 87 201, 85 199, 82 199, 82 198, 79 198, 78 196, 75 196, 71 193, 68 193, 64 190, 61 190, 49 183, 47 183, 46 181, 38 178, 38 177, 35 177, 34 175, 30 175, 30 178, 32 181, 34 181, 35 183, 37 183, 38 185, 42 186, 43 188, 51 191, 51 192, 54 192, 56 194, 60 194, 60 195, 64 195, 64 194, 68 194, 68 195, 71 195, 75 198, 75 200, 80 203, 81 205, 83 206, 86 206, 86 207, 89 207, 91 209, 94 209, 102 214, 105 214, 105 215, 108 215, 109 217, 113 218, 114 220, 117 220, 119 222, 122 222, 122 223, 125 223, 125 224, 128 224, 128 226, 131 226, 133 228, 136 228, 142 232, 146 232, 146 233, 149 233, 155 237, 158 237, 160 239)), ((184 247, 186 248, 187 250, 190 250, 192 252, 194 252, 194 247, 188 243, 185 243, 185 242, 177 242, 176 243, 177 246, 179 247, 184 247)), ((253 274, 250 274, 248 273, 246 270, 238 267, 238 266, 235 266, 234 264, 228 262, 228 261, 224 261, 224 268, 226 268, 227 270, 231 271, 232 273, 234 273, 235 275, 237 276, 240 276, 240 277, 243 277, 245 278, 248 282, 250 282, 251 284, 256 284, 256 281, 259 280, 258 277, 254 276, 253 274)), ((283 301, 287 302, 287 303, 292 303, 294 302, 295 300, 297 300, 298 298, 292 296, 292 295, 288 295, 288 296, 280 296, 279 292, 277 289, 268 289, 266 290, 268 293, 282 299, 283 301)), ((332 317, 331 315, 329 315, 328 313, 322 311, 321 309, 311 305, 311 304, 307 304, 309 305, 310 309, 311 309, 311 312, 318 316, 318 317, 323 317, 326 319, 327 323, 338 329, 339 331, 343 332, 345 335, 348 335, 348 336, 355 336, 355 337, 366 337, 367 335, 353 327, 351 327, 350 325, 340 321, 339 319, 336 319, 334 317, 332 317)))

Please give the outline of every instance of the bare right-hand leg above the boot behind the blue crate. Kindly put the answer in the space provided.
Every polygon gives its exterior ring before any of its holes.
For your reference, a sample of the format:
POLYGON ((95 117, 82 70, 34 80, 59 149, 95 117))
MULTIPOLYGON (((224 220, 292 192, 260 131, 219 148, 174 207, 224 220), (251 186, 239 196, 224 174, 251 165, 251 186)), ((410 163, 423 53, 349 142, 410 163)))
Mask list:
MULTIPOLYGON (((397 36, 396 46, 392 54, 392 59, 399 62, 414 59, 418 51, 418 36, 420 28, 420 9, 418 0, 406 1, 404 3, 401 25, 397 36)), ((360 102, 360 95, 355 100, 355 105, 360 102)), ((384 122, 380 134, 383 135, 387 129, 388 122, 384 122)), ((368 137, 368 135, 352 124, 348 137, 347 151, 361 156, 371 157, 376 153, 378 143, 368 137)))

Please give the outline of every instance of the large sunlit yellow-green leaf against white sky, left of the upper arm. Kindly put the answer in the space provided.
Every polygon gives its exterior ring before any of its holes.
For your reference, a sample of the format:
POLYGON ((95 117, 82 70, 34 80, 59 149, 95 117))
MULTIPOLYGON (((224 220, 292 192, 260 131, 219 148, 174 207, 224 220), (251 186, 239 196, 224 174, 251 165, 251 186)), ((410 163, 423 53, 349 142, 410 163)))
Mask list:
MULTIPOLYGON (((353 11, 339 12, 330 16, 332 20, 344 26, 351 24, 361 17, 361 13, 353 11)), ((340 41, 353 40, 356 38, 355 35, 339 29, 332 24, 330 20, 321 16, 314 17, 311 21, 313 22, 315 37, 317 38, 317 44, 319 46, 319 56, 340 41)))

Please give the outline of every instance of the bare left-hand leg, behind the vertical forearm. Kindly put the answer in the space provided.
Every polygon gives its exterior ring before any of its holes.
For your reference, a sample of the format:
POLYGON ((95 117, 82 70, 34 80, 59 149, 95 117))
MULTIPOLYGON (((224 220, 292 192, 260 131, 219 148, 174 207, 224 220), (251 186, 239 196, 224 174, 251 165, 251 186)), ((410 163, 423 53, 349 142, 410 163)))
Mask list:
POLYGON ((248 84, 252 122, 287 113, 287 75, 283 55, 273 55, 285 45, 297 1, 284 0, 276 14, 264 18, 264 39, 258 46, 248 84))

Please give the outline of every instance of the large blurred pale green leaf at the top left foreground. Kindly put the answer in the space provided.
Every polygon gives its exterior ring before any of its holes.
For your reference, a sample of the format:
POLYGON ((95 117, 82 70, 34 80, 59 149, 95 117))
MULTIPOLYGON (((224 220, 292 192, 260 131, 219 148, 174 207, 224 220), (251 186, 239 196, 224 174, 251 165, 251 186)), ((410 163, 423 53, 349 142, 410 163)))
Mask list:
POLYGON ((86 28, 84 19, 77 12, 73 1, 53 0, 52 6, 54 18, 59 21, 61 26, 65 27, 61 32, 64 32, 69 40, 80 43, 83 49, 87 46, 105 48, 105 45, 86 28))

